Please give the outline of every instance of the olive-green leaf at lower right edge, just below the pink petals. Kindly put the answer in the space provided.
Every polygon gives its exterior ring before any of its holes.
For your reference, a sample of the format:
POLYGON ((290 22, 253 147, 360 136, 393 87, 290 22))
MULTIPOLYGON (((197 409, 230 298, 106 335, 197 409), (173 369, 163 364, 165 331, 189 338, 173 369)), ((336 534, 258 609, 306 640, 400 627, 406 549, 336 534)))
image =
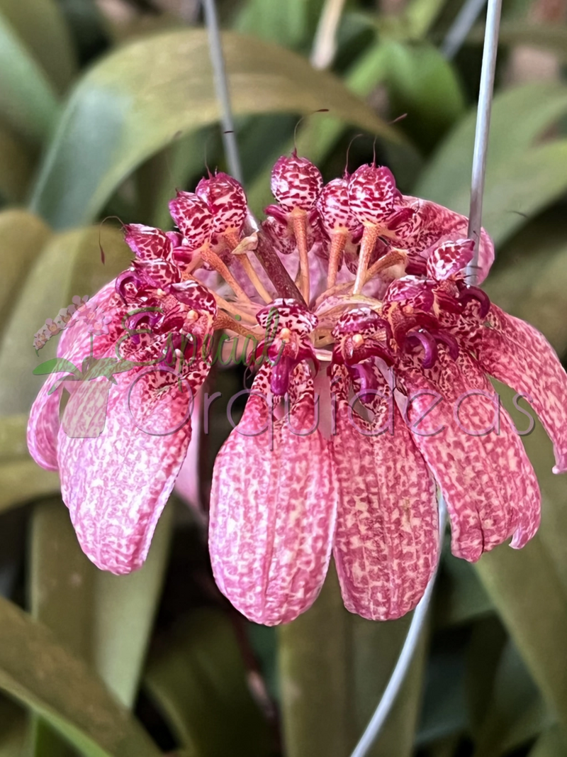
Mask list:
POLYGON ((567 726, 567 668, 557 664, 567 638, 567 593, 541 536, 521 551, 497 547, 476 570, 552 712, 567 726))

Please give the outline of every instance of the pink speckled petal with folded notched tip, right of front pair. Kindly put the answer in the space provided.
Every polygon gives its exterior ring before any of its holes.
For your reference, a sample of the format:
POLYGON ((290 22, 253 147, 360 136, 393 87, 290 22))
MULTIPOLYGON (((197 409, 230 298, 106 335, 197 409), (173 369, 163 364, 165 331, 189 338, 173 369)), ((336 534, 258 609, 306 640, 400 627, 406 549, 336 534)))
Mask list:
POLYGON ((410 431, 451 516, 453 553, 474 562, 516 530, 514 546, 525 544, 538 528, 538 484, 501 409, 497 432, 496 395, 478 363, 464 353, 454 362, 441 347, 435 369, 406 366, 401 380, 410 431))

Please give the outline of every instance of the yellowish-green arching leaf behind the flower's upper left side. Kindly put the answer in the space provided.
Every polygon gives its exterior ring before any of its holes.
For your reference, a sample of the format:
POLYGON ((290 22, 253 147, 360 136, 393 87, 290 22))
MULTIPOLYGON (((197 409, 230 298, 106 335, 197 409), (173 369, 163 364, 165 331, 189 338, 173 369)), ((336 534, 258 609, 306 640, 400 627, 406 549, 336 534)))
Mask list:
POLYGON ((129 265, 129 249, 122 235, 109 227, 76 229, 53 235, 42 249, 20 290, 17 304, 5 319, 0 339, 0 413, 25 413, 42 385, 33 369, 53 357, 52 338, 39 356, 33 335, 46 318, 54 318, 73 296, 95 294, 101 285, 129 265), (106 263, 101 262, 99 237, 106 263))

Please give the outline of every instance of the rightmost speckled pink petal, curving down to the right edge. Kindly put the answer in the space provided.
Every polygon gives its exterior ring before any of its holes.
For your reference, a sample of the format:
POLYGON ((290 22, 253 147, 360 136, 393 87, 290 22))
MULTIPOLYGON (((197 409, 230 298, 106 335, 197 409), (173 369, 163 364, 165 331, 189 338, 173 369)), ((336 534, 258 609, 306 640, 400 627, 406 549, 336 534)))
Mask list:
POLYGON ((524 394, 553 441, 554 473, 567 471, 567 374, 553 347, 529 323, 495 305, 488 313, 491 328, 473 338, 486 372, 524 394))

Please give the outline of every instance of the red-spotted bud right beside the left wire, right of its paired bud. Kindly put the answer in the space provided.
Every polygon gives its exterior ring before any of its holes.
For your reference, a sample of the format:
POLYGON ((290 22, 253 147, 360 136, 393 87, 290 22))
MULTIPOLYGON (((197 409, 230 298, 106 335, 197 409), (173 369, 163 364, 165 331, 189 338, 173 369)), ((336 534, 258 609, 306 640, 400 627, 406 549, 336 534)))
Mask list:
POLYGON ((209 208, 213 217, 213 233, 240 232, 246 220, 246 195, 239 182, 228 173, 216 173, 201 179, 195 194, 209 208))

